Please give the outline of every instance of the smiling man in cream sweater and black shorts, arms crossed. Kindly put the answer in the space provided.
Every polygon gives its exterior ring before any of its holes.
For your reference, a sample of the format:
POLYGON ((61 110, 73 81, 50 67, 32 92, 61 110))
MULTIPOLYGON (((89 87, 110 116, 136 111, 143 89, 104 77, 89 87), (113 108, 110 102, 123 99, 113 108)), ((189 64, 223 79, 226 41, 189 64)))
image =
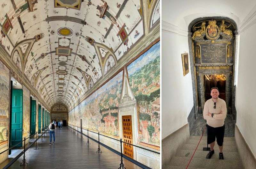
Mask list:
POLYGON ((206 156, 208 159, 214 154, 215 137, 217 138, 217 144, 220 149, 219 159, 224 159, 222 150, 225 132, 224 120, 227 115, 227 106, 226 102, 219 98, 219 95, 219 89, 212 87, 212 99, 207 100, 204 104, 204 119, 207 121, 207 144, 210 144, 211 147, 211 151, 209 151, 206 156))

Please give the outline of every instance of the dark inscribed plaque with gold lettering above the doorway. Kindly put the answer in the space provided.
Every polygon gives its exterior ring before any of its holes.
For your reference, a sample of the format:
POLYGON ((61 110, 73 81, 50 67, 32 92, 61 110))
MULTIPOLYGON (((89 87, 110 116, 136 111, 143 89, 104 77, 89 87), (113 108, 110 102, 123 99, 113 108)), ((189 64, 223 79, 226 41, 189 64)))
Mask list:
POLYGON ((201 63, 226 63, 227 43, 201 43, 201 63))

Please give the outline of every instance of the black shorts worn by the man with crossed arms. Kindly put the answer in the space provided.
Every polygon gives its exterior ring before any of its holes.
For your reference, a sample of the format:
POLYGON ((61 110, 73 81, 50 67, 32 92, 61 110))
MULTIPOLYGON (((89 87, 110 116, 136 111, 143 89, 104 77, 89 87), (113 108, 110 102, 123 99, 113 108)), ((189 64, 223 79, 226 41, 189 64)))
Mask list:
POLYGON ((224 141, 224 132, 225 132, 225 124, 222 127, 211 127, 209 125, 207 126, 207 143, 210 144, 212 142, 215 142, 215 137, 217 139, 217 143, 219 146, 223 145, 224 141))

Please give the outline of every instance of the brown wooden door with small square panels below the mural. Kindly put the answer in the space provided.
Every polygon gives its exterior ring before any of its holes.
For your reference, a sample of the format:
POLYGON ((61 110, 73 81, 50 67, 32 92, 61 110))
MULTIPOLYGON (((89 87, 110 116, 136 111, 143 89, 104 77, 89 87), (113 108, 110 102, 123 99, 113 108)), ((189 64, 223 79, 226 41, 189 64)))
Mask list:
POLYGON ((124 155, 133 158, 132 144, 132 115, 122 116, 124 155), (127 144, 130 143, 130 144, 127 144))

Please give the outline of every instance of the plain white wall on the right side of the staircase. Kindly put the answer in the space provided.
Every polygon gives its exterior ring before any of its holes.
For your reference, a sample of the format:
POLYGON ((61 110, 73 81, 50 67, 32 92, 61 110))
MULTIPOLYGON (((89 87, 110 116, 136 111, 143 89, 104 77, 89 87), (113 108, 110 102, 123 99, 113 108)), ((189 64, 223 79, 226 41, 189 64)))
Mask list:
POLYGON ((236 88, 236 124, 256 156, 256 24, 240 34, 238 78, 236 88))

